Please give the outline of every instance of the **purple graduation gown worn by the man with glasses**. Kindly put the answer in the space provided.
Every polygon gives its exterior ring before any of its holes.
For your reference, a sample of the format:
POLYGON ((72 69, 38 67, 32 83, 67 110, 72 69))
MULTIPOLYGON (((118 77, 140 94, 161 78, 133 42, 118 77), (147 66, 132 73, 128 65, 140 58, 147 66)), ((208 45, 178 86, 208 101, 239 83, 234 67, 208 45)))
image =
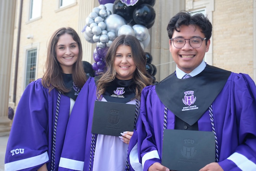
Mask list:
MULTIPOLYGON (((140 170, 139 164, 142 163, 143 170, 147 171, 153 163, 161 163, 164 107, 157 96, 156 86, 143 89, 137 133, 129 144, 130 170, 140 170), (138 154, 134 154, 137 151, 138 154)), ((212 111, 219 146, 219 165, 225 171, 255 171, 256 87, 250 76, 231 73, 213 101, 212 111)), ((174 126, 175 115, 168 109, 167 129, 174 129, 174 126)), ((212 131, 208 110, 198 120, 198 128, 199 131, 212 131)))

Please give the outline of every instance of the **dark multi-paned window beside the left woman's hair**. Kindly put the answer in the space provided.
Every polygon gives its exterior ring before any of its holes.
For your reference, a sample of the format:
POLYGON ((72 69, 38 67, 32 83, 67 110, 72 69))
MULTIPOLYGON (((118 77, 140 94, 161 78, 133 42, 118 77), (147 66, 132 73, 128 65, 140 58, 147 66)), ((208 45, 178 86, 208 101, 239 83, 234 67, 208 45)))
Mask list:
POLYGON ((27 66, 26 66, 26 80, 25 87, 36 78, 36 56, 37 49, 27 51, 27 66))

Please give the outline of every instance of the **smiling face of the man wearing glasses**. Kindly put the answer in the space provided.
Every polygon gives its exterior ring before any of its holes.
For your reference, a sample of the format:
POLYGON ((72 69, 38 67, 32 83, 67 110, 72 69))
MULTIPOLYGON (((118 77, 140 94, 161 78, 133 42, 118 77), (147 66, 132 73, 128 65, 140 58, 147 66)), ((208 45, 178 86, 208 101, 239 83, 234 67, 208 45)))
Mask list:
MULTIPOLYGON (((204 38, 205 35, 201 31, 202 30, 198 26, 182 25, 180 27, 180 32, 177 32, 176 30, 173 32, 172 38, 204 38)), ((207 44, 205 41, 206 40, 203 40, 201 47, 193 48, 190 46, 189 41, 186 40, 185 46, 180 49, 174 47, 171 40, 169 41, 170 52, 172 53, 173 60, 180 70, 185 73, 190 73, 200 65, 204 59, 204 54, 209 50, 210 40, 207 41, 207 44)))

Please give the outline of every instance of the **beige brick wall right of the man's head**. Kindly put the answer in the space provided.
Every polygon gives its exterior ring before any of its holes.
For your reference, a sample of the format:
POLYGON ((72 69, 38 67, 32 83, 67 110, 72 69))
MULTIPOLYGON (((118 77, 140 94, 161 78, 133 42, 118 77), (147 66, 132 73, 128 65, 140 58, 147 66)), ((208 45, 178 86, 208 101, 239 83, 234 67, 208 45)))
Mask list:
POLYGON ((213 64, 253 78, 253 1, 215 0, 213 64))

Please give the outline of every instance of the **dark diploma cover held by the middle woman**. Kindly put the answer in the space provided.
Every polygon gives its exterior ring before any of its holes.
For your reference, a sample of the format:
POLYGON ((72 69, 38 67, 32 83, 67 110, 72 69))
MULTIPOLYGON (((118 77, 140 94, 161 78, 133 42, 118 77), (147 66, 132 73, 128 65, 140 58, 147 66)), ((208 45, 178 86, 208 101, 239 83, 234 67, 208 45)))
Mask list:
POLYGON ((95 101, 92 133, 120 136, 123 131, 133 131, 136 105, 95 101))

